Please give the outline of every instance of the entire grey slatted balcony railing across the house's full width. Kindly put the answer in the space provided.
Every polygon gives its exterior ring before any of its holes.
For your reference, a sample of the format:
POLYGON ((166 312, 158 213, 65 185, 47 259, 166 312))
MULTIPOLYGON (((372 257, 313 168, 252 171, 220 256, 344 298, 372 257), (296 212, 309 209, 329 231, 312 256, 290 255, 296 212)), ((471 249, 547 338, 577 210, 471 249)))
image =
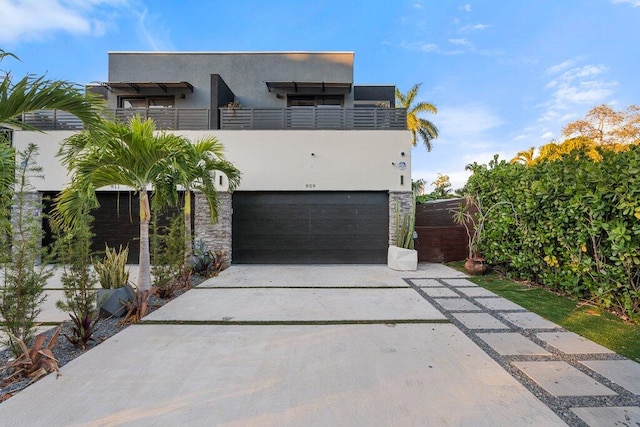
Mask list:
MULTIPOLYGON (((221 108, 220 129, 343 129, 403 130, 407 111, 403 108, 221 108)), ((126 122, 140 115, 151 118, 157 129, 206 130, 215 123, 207 108, 118 108, 111 117, 126 122)), ((22 121, 41 130, 81 130, 82 121, 59 110, 38 110, 22 115, 22 121)))

